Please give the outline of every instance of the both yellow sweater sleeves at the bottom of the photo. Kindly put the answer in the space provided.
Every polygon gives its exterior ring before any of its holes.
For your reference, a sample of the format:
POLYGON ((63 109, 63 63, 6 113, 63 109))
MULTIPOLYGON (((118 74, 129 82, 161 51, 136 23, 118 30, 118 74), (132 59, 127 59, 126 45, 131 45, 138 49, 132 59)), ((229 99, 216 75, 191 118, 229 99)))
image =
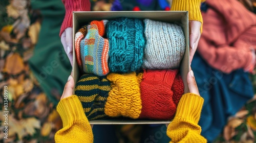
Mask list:
MULTIPOLYGON (((174 120, 168 125, 167 135, 170 142, 207 142, 200 135, 198 125, 203 98, 193 93, 182 96, 174 120)), ((55 134, 55 142, 93 142, 93 132, 77 96, 62 99, 57 111, 63 128, 55 134)))

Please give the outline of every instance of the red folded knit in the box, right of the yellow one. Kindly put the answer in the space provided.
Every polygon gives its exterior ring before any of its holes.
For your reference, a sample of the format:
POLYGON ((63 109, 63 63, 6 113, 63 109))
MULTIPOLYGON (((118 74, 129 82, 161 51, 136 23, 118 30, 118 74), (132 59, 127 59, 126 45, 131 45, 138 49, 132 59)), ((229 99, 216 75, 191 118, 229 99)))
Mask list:
POLYGON ((142 110, 140 118, 172 120, 184 92, 184 84, 175 70, 144 70, 140 84, 142 110))

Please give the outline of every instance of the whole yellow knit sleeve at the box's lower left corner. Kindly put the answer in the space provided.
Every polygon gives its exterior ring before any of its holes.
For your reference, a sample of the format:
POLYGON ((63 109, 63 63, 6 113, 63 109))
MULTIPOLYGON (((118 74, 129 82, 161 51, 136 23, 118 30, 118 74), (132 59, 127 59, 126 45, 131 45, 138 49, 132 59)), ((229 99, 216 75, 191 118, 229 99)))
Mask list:
POLYGON ((57 106, 63 128, 56 132, 55 142, 93 142, 93 132, 77 96, 60 100, 57 106))

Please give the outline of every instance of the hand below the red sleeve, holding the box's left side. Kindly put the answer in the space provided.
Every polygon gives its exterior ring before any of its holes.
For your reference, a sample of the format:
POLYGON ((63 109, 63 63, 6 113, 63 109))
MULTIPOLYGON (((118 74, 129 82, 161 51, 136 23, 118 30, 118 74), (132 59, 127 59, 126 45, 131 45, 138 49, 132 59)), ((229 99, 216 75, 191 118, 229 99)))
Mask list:
POLYGON ((69 61, 70 61, 71 65, 73 66, 73 40, 72 39, 73 39, 72 38, 72 28, 68 27, 61 34, 60 40, 61 40, 61 43, 64 47, 66 54, 69 57, 69 61))

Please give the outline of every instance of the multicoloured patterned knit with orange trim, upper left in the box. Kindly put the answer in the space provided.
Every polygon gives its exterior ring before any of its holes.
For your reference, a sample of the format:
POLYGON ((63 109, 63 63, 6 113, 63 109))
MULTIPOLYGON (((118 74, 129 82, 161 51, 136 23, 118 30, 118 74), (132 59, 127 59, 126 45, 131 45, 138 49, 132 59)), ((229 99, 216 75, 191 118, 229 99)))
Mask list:
POLYGON ((80 42, 84 73, 105 76, 109 73, 109 40, 98 33, 96 25, 88 26, 88 33, 80 42))

